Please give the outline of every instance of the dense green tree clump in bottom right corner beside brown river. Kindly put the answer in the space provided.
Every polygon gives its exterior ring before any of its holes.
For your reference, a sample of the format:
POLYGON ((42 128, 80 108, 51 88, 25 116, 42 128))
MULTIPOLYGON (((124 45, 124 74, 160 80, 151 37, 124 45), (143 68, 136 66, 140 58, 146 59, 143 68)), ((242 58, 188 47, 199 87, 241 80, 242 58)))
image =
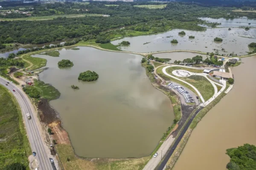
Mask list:
POLYGON ((238 148, 227 149, 230 162, 227 164, 228 170, 255 170, 256 169, 256 147, 244 144, 238 148))

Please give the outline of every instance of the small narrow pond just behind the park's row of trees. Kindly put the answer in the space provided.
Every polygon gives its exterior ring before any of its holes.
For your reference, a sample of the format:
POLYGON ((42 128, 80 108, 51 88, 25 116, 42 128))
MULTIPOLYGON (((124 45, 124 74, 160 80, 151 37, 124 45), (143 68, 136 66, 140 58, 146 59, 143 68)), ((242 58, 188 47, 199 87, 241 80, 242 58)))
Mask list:
MULTIPOLYGON (((172 60, 170 60, 169 63, 173 63, 175 60, 183 61, 186 58, 193 58, 196 55, 201 55, 201 54, 196 54, 192 52, 166 52, 166 53, 154 54, 154 57, 171 58, 172 60)), ((203 60, 209 57, 209 55, 201 55, 201 56, 203 57, 203 60)))

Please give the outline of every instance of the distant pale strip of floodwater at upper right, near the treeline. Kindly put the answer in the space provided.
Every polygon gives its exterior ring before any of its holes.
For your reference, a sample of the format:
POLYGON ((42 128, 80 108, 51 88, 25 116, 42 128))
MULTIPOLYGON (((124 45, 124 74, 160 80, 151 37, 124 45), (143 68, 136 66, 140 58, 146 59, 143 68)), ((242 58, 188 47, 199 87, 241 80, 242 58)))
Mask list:
POLYGON ((201 20, 206 20, 211 23, 221 23, 217 27, 239 27, 239 26, 248 26, 248 27, 256 27, 256 20, 248 19, 247 17, 240 17, 234 19, 226 19, 226 18, 209 18, 209 17, 199 17, 201 20), (250 23, 250 24, 249 24, 250 23))

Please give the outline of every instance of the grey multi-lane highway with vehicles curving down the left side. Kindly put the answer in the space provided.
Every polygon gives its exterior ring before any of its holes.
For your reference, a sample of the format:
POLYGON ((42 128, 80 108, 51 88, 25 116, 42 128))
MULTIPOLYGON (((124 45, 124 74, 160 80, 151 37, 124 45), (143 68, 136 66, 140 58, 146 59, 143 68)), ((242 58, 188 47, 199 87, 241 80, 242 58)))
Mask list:
POLYGON ((15 96, 20 105, 23 120, 25 121, 27 135, 29 137, 31 150, 32 152, 36 152, 35 158, 39 163, 39 170, 52 170, 52 165, 49 161, 49 156, 46 152, 46 149, 48 148, 44 146, 38 128, 38 124, 36 122, 37 117, 35 117, 35 115, 37 115, 37 113, 35 112, 35 109, 31 104, 31 101, 29 100, 28 96, 22 91, 22 89, 18 88, 17 85, 11 83, 11 81, 8 81, 2 77, 0 77, 0 84, 5 86, 10 92, 12 92, 12 94, 15 96), (6 86, 7 82, 10 82, 8 86, 6 86), (15 92, 12 91, 13 89, 15 90, 15 92), (28 118, 26 117, 26 113, 30 114, 30 120, 28 120, 28 118))

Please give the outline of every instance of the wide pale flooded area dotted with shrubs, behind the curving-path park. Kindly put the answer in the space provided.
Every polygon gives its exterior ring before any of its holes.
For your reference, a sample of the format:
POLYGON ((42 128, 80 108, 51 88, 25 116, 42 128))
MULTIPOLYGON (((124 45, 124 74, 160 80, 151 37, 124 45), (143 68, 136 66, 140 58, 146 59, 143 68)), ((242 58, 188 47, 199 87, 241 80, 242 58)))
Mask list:
POLYGON ((121 40, 112 41, 114 45, 122 41, 129 41, 130 46, 121 47, 122 50, 132 52, 157 52, 166 50, 195 50, 201 52, 215 52, 219 50, 219 54, 229 55, 234 52, 237 55, 246 55, 251 51, 248 44, 256 42, 256 29, 245 31, 244 29, 232 28, 215 28, 207 29, 205 32, 188 31, 181 29, 173 29, 172 31, 139 37, 126 37, 121 40), (186 35, 178 35, 178 32, 185 31, 186 35), (195 36, 189 39, 189 35, 195 36), (222 42, 215 42, 214 38, 220 37, 222 42), (250 38, 248 38, 250 37, 250 38), (170 41, 177 39, 178 43, 173 44, 170 41), (222 51, 222 48, 224 51, 222 51))

